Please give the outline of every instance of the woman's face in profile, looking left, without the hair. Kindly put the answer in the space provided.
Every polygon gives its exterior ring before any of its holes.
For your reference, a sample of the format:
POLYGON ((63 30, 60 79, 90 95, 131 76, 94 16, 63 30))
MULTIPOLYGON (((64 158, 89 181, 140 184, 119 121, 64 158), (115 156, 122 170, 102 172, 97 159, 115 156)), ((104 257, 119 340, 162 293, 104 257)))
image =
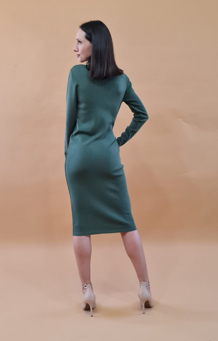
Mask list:
POLYGON ((85 32, 80 28, 76 35, 76 45, 73 47, 80 63, 85 62, 91 56, 91 48, 92 44, 85 38, 85 32))

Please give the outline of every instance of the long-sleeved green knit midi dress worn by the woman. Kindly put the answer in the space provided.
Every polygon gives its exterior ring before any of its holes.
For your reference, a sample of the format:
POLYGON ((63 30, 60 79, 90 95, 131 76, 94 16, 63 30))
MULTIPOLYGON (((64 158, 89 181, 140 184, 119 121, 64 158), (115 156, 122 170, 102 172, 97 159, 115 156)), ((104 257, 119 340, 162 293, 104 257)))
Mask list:
POLYGON ((66 96, 65 175, 73 236, 136 230, 119 149, 147 121, 147 111, 126 74, 93 80, 86 65, 70 70, 66 96), (133 112, 116 138, 120 105, 133 112))

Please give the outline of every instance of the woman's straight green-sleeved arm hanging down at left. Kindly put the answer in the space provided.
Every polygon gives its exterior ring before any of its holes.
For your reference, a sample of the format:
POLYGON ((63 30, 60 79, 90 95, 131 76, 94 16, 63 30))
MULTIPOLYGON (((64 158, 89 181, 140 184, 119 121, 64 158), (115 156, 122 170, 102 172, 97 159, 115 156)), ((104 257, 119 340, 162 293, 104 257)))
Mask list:
POLYGON ((73 84, 71 71, 67 83, 66 95, 66 129, 65 129, 65 147, 64 154, 67 156, 67 150, 70 143, 70 136, 77 123, 77 91, 73 84))

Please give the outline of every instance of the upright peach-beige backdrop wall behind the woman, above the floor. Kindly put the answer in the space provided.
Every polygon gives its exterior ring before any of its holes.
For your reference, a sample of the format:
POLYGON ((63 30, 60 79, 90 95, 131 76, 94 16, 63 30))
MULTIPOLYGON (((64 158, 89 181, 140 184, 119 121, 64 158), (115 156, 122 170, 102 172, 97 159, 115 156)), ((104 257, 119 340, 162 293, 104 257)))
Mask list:
MULTIPOLYGON (((1 3, 1 240, 72 235, 65 98, 81 23, 102 20, 149 120, 120 148, 143 238, 217 238, 217 3, 1 3)), ((132 113, 124 103, 120 135, 132 113)), ((105 236, 102 236, 104 238, 105 236)), ((108 236, 112 238, 112 236, 108 236)))

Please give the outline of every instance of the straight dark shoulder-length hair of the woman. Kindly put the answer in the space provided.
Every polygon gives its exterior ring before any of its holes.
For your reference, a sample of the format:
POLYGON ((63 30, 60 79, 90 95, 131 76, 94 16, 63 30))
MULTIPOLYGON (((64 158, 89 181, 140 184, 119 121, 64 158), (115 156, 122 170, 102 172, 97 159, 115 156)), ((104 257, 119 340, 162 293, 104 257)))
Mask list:
POLYGON ((86 62, 89 77, 105 79, 123 74, 114 58, 114 46, 107 26, 100 20, 91 20, 80 25, 85 38, 92 44, 91 56, 86 62))

